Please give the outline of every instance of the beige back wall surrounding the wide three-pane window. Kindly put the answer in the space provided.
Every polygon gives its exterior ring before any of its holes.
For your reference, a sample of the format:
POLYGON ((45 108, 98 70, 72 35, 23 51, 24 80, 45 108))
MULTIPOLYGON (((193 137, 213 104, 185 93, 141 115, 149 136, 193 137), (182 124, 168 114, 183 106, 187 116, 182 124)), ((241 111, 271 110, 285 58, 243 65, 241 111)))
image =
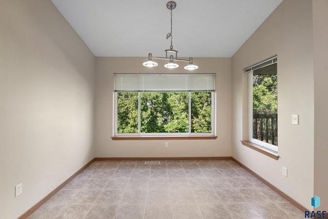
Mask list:
MULTIPOLYGON (((164 53, 164 52, 163 52, 164 53)), ((156 68, 142 66, 145 57, 97 57, 95 145, 96 157, 231 156, 231 58, 194 58, 195 73, 216 73, 216 140, 113 141, 114 73, 187 73, 170 70, 159 61, 156 68), (169 148, 165 148, 169 142, 169 148)))

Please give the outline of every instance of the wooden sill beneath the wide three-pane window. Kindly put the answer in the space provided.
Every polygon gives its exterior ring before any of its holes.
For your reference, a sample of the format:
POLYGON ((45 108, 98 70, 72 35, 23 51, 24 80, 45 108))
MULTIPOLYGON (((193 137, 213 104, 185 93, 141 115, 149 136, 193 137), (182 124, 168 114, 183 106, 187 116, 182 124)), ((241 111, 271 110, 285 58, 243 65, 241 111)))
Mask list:
POLYGON ((217 136, 200 135, 200 136, 113 136, 112 140, 213 140, 217 136))

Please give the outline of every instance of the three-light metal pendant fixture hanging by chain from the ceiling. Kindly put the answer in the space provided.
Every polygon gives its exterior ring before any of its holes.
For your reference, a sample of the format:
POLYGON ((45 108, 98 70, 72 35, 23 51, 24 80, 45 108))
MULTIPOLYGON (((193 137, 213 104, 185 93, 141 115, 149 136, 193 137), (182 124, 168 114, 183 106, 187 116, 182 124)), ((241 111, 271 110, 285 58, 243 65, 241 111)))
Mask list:
POLYGON ((185 69, 187 69, 187 70, 197 69, 198 66, 196 66, 193 63, 193 58, 192 57, 190 57, 189 60, 178 58, 178 51, 173 49, 173 43, 172 43, 172 10, 175 9, 176 3, 173 2, 173 1, 170 1, 166 4, 166 7, 171 11, 171 32, 168 33, 167 36, 166 36, 167 39, 171 38, 170 49, 165 50, 165 54, 166 54, 165 57, 153 57, 152 53, 149 53, 148 54, 148 61, 144 62, 142 65, 144 65, 146 67, 156 67, 158 64, 156 62, 154 62, 153 59, 164 59, 164 60, 169 60, 169 63, 164 65, 165 68, 177 68, 177 67, 179 67, 179 65, 176 64, 174 61, 182 61, 182 62, 188 62, 188 65, 185 66, 185 69), (174 55, 170 55, 168 57, 168 52, 173 53, 173 54, 175 53, 175 57, 174 57, 174 55))

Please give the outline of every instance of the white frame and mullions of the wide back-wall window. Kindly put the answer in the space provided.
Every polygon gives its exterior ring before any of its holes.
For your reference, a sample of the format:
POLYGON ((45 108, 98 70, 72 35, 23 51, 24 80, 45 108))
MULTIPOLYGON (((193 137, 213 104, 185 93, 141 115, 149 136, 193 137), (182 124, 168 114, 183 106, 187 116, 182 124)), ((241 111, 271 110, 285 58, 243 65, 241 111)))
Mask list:
MULTIPOLYGON (((176 136, 176 137, 181 137, 181 136, 214 136, 216 133, 216 123, 215 123, 215 117, 216 117, 216 104, 215 104, 215 97, 216 97, 216 91, 210 91, 211 92, 211 132, 208 133, 194 133, 191 132, 191 123, 192 123, 192 118, 191 118, 191 93, 197 92, 197 91, 187 91, 189 93, 189 101, 188 101, 188 113, 189 113, 189 127, 188 127, 188 132, 180 132, 180 133, 141 133, 141 92, 138 91, 138 133, 118 133, 117 132, 117 93, 118 91, 113 92, 113 107, 114 107, 114 113, 113 113, 113 136, 131 136, 131 137, 167 137, 167 136, 176 136)), ((149 92, 149 91, 147 91, 149 92)), ((157 92, 157 91, 154 91, 157 92)), ((174 91, 172 91, 174 92, 174 91)))

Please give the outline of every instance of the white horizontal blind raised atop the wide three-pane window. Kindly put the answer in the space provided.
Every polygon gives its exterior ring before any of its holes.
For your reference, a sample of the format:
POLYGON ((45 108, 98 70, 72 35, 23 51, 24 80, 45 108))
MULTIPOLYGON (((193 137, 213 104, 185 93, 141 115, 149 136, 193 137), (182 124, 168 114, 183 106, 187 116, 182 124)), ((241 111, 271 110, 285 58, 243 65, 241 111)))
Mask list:
POLYGON ((215 91, 215 74, 114 74, 115 92, 215 91))

